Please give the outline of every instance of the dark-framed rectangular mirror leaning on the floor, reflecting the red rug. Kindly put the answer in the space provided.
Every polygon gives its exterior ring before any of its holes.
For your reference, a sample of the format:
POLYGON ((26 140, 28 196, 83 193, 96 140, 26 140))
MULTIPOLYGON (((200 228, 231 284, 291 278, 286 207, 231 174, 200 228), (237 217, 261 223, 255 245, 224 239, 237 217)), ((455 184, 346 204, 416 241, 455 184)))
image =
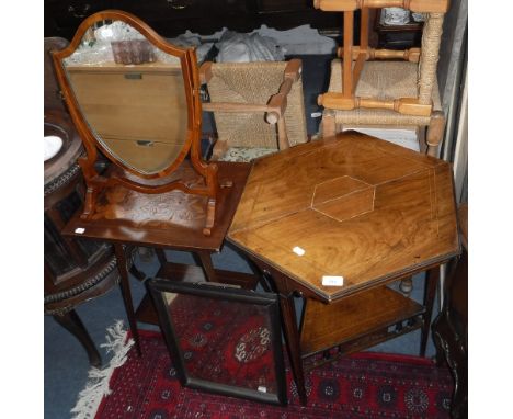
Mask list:
POLYGON ((183 386, 287 403, 277 294, 158 278, 146 285, 183 386))

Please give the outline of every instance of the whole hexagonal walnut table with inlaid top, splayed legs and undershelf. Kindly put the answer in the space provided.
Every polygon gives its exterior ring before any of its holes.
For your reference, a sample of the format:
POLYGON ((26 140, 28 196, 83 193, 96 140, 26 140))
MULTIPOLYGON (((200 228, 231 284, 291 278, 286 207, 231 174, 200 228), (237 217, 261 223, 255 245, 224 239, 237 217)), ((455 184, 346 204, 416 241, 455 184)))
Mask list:
POLYGON ((358 133, 300 145, 254 162, 228 239, 280 293, 305 403, 304 359, 320 358, 312 354, 418 328, 424 354, 438 267, 460 251, 452 169, 358 133), (387 286, 422 271, 422 305, 387 286), (295 295, 306 298, 300 331, 295 295))

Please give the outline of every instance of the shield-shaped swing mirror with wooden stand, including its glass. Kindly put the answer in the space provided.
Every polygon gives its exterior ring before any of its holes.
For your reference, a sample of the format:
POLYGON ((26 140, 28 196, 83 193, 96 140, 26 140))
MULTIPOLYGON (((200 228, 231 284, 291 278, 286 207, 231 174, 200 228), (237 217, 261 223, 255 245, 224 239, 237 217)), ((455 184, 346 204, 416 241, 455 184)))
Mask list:
POLYGON ((195 50, 169 44, 129 13, 106 10, 87 18, 53 59, 87 151, 79 160, 87 183, 81 217, 94 216, 107 186, 148 194, 180 190, 206 197, 203 233, 209 235, 218 168, 201 157, 195 50), (103 173, 95 169, 100 152, 114 163, 103 173))

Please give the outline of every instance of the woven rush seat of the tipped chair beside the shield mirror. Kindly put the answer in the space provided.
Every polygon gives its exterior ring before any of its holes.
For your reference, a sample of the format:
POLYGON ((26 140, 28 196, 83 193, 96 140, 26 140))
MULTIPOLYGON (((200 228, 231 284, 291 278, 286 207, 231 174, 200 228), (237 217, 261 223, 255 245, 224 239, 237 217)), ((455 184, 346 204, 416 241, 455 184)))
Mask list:
MULTIPOLYGON (((228 147, 277 151, 281 133, 277 124, 266 121, 266 112, 284 83, 287 63, 212 63, 208 67, 208 77, 202 72, 210 99, 204 110, 214 114, 218 141, 228 147)), ((288 145, 307 141, 300 72, 283 97, 286 100, 281 117, 288 145)))

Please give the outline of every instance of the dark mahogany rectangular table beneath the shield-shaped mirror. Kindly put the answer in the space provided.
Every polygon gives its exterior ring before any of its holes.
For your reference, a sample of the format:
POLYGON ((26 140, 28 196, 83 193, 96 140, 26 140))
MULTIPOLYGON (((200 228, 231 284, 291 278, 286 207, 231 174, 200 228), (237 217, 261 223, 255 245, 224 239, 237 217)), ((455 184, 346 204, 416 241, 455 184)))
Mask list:
MULTIPOLYGON (((137 314, 134 312, 128 282, 127 247, 146 246, 160 249, 157 250, 161 263, 157 273, 159 278, 179 281, 185 278, 204 281, 206 278, 213 282, 221 278, 223 282, 244 287, 252 287, 256 283, 254 275, 216 270, 212 264, 210 256, 220 251, 223 247, 251 168, 249 163, 238 162, 218 162, 218 166, 219 181, 223 183, 225 180, 230 180, 232 185, 220 189, 215 227, 210 236, 202 233, 206 214, 206 197, 185 194, 181 191, 151 195, 123 186, 105 189, 99 196, 92 219, 81 219, 79 211, 62 230, 65 236, 113 244, 121 275, 123 301, 139 353, 136 319, 158 325, 158 318, 148 295, 140 303, 137 314), (171 263, 166 260, 162 249, 193 252, 200 257, 201 268, 171 263)), ((194 172, 187 165, 183 165, 178 174, 186 179, 194 175, 194 172)))

